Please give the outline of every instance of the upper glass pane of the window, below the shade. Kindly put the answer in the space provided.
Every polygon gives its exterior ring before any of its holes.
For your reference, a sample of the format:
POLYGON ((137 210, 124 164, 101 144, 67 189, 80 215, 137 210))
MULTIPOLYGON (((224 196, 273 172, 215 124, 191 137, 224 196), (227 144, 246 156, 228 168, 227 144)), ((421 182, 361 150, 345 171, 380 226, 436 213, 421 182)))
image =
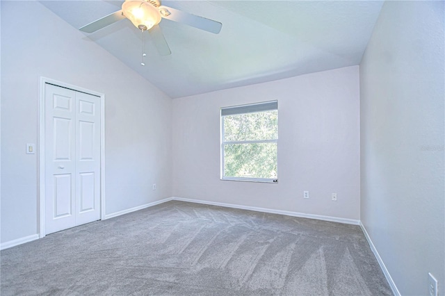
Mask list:
POLYGON ((223 117, 224 142, 276 140, 278 111, 226 115, 223 117))

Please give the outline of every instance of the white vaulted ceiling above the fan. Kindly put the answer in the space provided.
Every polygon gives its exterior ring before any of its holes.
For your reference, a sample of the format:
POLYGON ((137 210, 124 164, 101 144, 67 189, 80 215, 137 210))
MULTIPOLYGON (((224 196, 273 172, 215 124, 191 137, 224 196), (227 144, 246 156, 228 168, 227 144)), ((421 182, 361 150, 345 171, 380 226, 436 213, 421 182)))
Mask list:
MULTIPOLYGON (((42 1, 75 28, 120 10, 123 1, 42 1)), ((218 35, 163 19, 170 56, 160 56, 128 19, 86 38, 172 98, 358 65, 382 1, 162 1, 223 23, 218 35)))

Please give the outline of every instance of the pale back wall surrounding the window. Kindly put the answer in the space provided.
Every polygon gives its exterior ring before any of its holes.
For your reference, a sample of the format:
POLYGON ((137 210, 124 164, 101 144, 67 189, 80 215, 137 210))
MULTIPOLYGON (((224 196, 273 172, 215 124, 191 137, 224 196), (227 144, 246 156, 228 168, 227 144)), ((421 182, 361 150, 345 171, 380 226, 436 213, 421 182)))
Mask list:
POLYGON ((358 66, 173 100, 175 197, 358 220, 359 194, 358 66), (275 99, 279 183, 221 181, 220 107, 275 99))

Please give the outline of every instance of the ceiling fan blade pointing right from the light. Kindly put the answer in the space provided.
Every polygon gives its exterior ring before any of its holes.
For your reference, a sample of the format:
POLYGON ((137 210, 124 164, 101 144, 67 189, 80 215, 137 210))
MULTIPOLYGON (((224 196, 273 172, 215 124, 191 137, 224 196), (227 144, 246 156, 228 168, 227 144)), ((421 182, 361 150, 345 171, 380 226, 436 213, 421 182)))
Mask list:
POLYGON ((220 22, 213 21, 212 19, 184 13, 184 11, 167 6, 159 6, 159 11, 161 12, 161 16, 165 19, 200 28, 201 30, 214 34, 220 33, 221 27, 223 26, 220 22))

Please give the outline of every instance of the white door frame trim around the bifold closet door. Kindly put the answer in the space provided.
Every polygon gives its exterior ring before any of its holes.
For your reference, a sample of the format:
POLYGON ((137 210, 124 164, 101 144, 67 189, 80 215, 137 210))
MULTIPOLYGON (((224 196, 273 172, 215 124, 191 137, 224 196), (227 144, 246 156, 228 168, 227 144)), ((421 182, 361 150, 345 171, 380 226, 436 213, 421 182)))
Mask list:
POLYGON ((46 235, 46 228, 45 228, 45 159, 44 159, 44 151, 45 151, 45 145, 44 145, 44 120, 45 120, 45 114, 44 114, 44 89, 45 84, 49 83, 52 85, 59 86, 60 88, 68 88, 70 90, 74 90, 76 92, 85 92, 87 94, 92 94, 93 96, 100 98, 100 219, 105 219, 105 94, 102 94, 100 92, 95 92, 94 90, 87 90, 86 88, 81 88, 76 85, 71 85, 68 83, 64 83, 61 81, 56 81, 54 79, 49 79, 47 77, 40 76, 40 92, 39 92, 39 122, 38 122, 38 205, 39 205, 39 212, 38 212, 38 229, 39 229, 39 237, 43 238, 46 235))

